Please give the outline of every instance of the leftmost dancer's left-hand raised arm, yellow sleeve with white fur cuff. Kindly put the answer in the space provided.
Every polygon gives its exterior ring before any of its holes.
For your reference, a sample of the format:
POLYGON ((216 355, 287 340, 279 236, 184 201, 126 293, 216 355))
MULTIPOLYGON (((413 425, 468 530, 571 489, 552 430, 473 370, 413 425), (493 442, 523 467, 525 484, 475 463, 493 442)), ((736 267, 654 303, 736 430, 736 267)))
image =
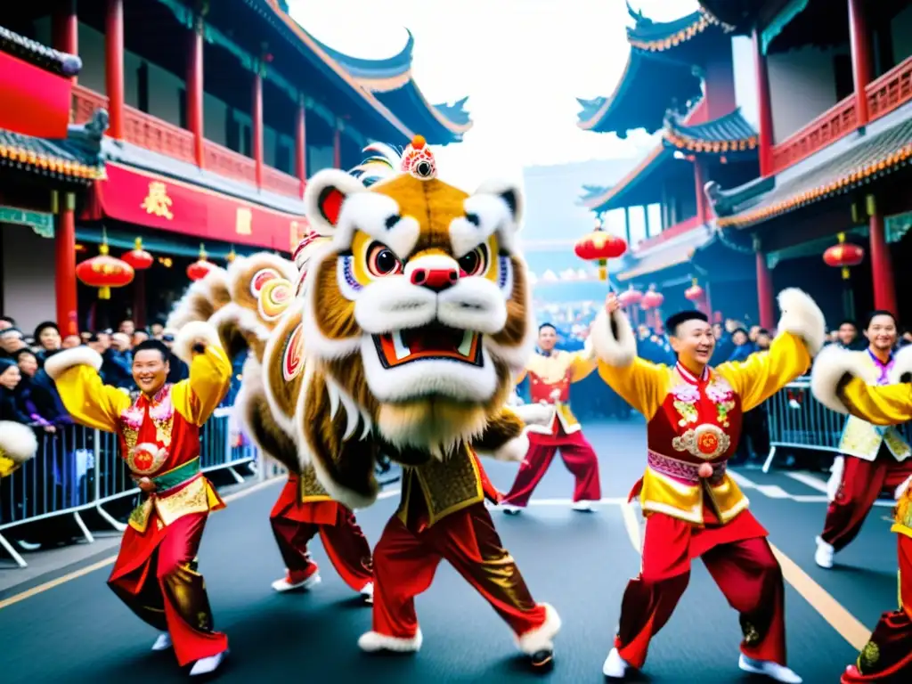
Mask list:
POLYGON ((130 395, 101 381, 101 362, 94 349, 74 347, 48 358, 45 371, 57 384, 57 393, 73 420, 89 428, 116 432, 120 412, 130 406, 130 395))

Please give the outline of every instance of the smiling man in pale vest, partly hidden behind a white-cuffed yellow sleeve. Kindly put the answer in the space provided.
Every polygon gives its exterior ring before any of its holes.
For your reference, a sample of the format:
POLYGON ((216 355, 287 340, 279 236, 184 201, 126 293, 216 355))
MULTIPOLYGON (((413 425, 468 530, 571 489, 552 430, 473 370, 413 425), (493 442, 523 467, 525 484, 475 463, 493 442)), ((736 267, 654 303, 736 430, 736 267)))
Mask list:
MULTIPOLYGON (((846 352, 853 355, 858 377, 872 385, 896 380, 893 347, 897 335, 896 318, 890 312, 875 311, 868 317, 867 348, 846 352)), ((880 493, 886 490, 898 499, 912 479, 912 448, 895 427, 876 428, 850 416, 845 421, 839 451, 831 478, 830 490, 834 494, 814 554, 814 562, 824 568, 833 567, 834 554, 861 531, 880 493)))

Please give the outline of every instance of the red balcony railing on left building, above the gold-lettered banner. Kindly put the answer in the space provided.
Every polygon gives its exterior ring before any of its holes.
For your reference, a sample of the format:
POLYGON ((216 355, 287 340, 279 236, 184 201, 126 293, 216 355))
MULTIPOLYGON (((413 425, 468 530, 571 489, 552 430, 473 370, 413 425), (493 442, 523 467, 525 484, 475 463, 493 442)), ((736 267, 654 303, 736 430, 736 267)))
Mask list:
MULTIPOLYGON (((73 87, 74 123, 85 123, 96 109, 108 107, 108 98, 94 90, 73 87)), ((193 134, 180 126, 168 123, 139 109, 124 107, 124 139, 145 150, 160 152, 173 159, 196 163, 193 155, 193 134)), ((212 140, 203 143, 203 166, 234 181, 242 181, 256 187, 256 162, 250 157, 229 150, 212 140)), ((263 189, 269 192, 298 198, 301 196, 300 181, 295 176, 264 167, 263 189)))

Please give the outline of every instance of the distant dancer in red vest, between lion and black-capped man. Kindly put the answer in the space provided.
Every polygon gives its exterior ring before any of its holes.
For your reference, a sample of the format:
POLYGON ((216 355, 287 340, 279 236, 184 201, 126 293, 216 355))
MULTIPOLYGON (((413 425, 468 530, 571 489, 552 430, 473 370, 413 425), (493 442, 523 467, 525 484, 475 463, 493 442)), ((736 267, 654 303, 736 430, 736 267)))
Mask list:
POLYGON ((596 369, 596 360, 586 351, 555 349, 557 330, 550 323, 538 328, 539 354, 534 354, 517 384, 529 377, 535 403, 551 409, 550 420, 529 426, 529 452, 516 473, 510 492, 503 497, 504 513, 519 513, 529 503, 535 487, 548 472, 554 454, 560 450, 568 471, 576 478, 574 510, 591 511, 592 503, 602 498, 598 481, 598 457, 583 436, 579 421, 570 412, 570 385, 586 378, 596 369))

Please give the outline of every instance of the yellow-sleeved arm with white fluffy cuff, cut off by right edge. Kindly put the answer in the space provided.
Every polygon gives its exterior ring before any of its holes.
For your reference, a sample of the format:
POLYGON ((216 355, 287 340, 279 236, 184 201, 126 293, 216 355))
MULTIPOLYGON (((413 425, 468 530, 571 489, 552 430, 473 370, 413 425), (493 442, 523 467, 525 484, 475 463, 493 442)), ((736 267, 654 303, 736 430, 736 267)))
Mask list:
MULTIPOLYGON (((827 409, 875 423, 897 425, 912 420, 912 385, 868 385, 862 359, 839 347, 828 347, 814 361, 811 391, 827 409)), ((895 379, 912 372, 912 347, 896 354, 895 379)))

